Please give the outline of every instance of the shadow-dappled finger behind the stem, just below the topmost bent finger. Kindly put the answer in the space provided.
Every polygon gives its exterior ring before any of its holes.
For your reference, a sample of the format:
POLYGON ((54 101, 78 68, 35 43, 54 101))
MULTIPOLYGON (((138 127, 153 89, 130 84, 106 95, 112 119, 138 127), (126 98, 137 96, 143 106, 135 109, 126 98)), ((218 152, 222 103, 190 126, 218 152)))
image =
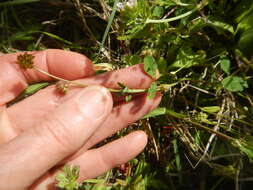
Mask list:
MULTIPOLYGON (((117 70, 97 75, 87 79, 83 79, 84 84, 99 84, 106 87, 117 87, 118 82, 124 83, 129 88, 148 88, 153 82, 146 73, 143 72, 143 65, 136 65, 126 69, 117 70), (127 77, 126 77, 127 76, 127 77), (103 79, 103 80, 102 80, 103 79)), ((31 126, 36 125, 38 118, 43 118, 46 114, 54 110, 57 105, 73 96, 77 91, 82 90, 76 88, 69 91, 65 96, 57 93, 54 86, 40 90, 38 93, 26 98, 25 100, 16 103, 8 108, 9 118, 17 133, 24 131, 31 126), (17 118, 17 115, 19 116, 17 118), (20 120, 19 118, 22 118, 20 120)))

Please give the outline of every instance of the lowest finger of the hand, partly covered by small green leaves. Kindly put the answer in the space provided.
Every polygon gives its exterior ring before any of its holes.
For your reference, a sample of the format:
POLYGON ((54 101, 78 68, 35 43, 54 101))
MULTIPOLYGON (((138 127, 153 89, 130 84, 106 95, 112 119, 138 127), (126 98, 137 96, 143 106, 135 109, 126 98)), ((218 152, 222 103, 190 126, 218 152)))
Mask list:
MULTIPOLYGON (((143 131, 135 131, 100 148, 88 150, 66 164, 80 166, 79 181, 91 179, 133 159, 146 144, 147 135, 143 131)), ((56 190, 55 176, 59 171, 58 168, 48 172, 31 190, 56 190)))

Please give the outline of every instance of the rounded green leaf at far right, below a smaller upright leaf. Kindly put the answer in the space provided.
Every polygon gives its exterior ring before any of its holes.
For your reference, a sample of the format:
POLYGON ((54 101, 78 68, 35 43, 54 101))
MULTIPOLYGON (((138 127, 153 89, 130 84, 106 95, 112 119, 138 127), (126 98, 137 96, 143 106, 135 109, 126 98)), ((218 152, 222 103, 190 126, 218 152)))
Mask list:
POLYGON ((243 91, 244 88, 248 88, 247 81, 241 77, 228 76, 222 81, 223 87, 231 92, 243 91))

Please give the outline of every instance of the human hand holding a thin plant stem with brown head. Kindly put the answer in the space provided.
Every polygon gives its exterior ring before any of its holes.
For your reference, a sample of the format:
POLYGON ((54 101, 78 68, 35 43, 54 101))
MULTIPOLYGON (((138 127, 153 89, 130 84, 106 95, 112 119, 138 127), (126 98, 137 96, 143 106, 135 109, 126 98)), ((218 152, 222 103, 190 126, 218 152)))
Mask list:
POLYGON ((54 86, 6 108, 29 83, 51 80, 34 70, 21 71, 17 54, 0 57, 0 189, 55 189, 55 174, 63 164, 80 166, 79 180, 96 177, 135 157, 147 143, 142 131, 99 148, 103 139, 140 119, 160 102, 160 95, 112 99, 106 88, 121 82, 148 88, 152 79, 142 65, 97 76, 91 62, 62 50, 34 52, 35 65, 56 76, 92 84, 65 96, 54 86), (98 86, 102 85, 102 86, 98 86), (114 104, 114 106, 113 106, 114 104))

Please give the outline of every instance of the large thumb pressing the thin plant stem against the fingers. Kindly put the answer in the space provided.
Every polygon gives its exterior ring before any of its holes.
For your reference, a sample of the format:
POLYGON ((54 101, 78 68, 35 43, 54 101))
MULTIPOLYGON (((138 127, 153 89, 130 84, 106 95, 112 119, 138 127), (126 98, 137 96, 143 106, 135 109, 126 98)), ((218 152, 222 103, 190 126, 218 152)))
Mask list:
POLYGON ((31 185, 77 151, 111 109, 112 98, 106 88, 87 87, 49 113, 40 125, 0 146, 0 189, 31 185))

